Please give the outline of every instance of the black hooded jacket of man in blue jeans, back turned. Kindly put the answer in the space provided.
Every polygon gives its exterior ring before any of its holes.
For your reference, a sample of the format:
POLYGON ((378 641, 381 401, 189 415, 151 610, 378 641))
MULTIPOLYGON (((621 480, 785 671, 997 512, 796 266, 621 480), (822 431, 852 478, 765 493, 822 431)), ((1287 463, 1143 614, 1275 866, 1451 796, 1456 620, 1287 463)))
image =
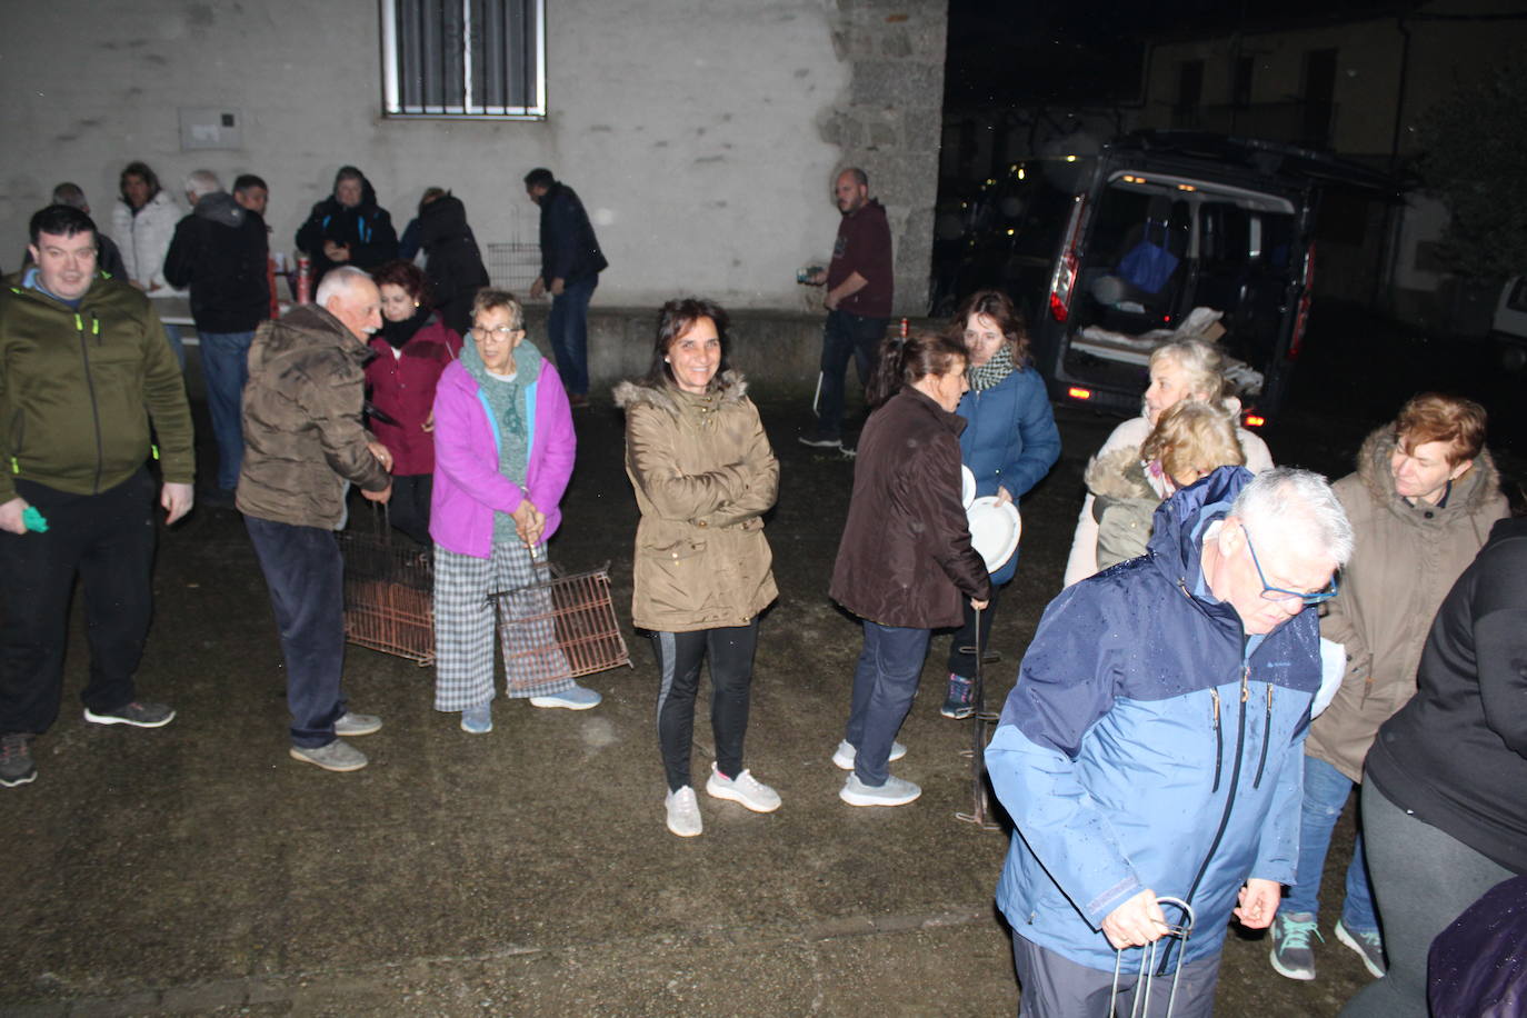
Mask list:
POLYGON ((191 288, 197 331, 252 333, 270 316, 267 259, 266 221, 218 191, 176 226, 165 279, 191 288))

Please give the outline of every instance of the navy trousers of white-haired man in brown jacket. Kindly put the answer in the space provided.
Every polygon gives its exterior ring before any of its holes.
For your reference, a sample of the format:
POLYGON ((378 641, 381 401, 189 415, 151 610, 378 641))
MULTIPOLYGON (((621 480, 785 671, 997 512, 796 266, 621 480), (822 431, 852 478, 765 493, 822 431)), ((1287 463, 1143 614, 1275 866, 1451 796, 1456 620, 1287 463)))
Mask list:
POLYGON ((255 557, 270 588, 287 665, 292 745, 313 749, 334 740, 345 713, 344 560, 334 531, 244 517, 255 557))

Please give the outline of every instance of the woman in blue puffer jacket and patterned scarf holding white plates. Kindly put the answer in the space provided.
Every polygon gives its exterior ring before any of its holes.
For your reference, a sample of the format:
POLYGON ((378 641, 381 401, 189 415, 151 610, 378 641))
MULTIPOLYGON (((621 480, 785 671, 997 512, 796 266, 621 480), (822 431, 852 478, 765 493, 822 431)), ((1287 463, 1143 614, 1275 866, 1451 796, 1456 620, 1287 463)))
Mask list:
MULTIPOLYGON (((964 336, 970 350, 970 392, 959 401, 967 426, 959 438, 960 459, 976 475, 976 496, 994 495, 1017 502, 1040 482, 1060 458, 1060 432, 1051 412, 1044 380, 1028 359, 1029 336, 1023 317, 1000 290, 977 290, 965 298, 948 331, 964 336)), ((1017 571, 1014 552, 991 575, 991 604, 980 617, 980 652, 991 639, 997 594, 1017 571)), ((970 717, 971 678, 976 675, 976 612, 965 604, 965 624, 950 641, 945 717, 970 717)))

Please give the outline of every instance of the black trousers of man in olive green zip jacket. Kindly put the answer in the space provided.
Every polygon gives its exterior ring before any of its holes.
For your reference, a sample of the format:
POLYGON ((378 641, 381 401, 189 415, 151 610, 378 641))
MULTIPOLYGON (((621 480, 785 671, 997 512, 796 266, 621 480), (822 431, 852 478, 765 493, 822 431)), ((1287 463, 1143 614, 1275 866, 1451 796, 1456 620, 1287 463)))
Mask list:
POLYGON ((18 479, 46 533, 0 531, 0 733, 47 731, 58 719, 69 601, 86 592, 90 681, 79 699, 108 713, 133 702, 133 673, 153 615, 154 481, 139 470, 101 495, 18 479))

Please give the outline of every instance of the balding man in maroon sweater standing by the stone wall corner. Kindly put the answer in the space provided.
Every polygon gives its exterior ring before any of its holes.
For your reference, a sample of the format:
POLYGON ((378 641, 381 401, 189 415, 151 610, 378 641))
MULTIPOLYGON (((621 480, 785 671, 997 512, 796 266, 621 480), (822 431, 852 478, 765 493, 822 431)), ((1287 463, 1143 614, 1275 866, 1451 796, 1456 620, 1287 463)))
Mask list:
POLYGON ((869 176, 855 166, 838 174, 832 189, 843 221, 832 246, 832 263, 811 285, 826 285, 828 321, 822 328, 822 391, 817 432, 802 435, 806 446, 843 449, 844 375, 849 360, 860 385, 869 388, 880 340, 886 337, 893 296, 890 224, 886 208, 869 197, 869 176))

